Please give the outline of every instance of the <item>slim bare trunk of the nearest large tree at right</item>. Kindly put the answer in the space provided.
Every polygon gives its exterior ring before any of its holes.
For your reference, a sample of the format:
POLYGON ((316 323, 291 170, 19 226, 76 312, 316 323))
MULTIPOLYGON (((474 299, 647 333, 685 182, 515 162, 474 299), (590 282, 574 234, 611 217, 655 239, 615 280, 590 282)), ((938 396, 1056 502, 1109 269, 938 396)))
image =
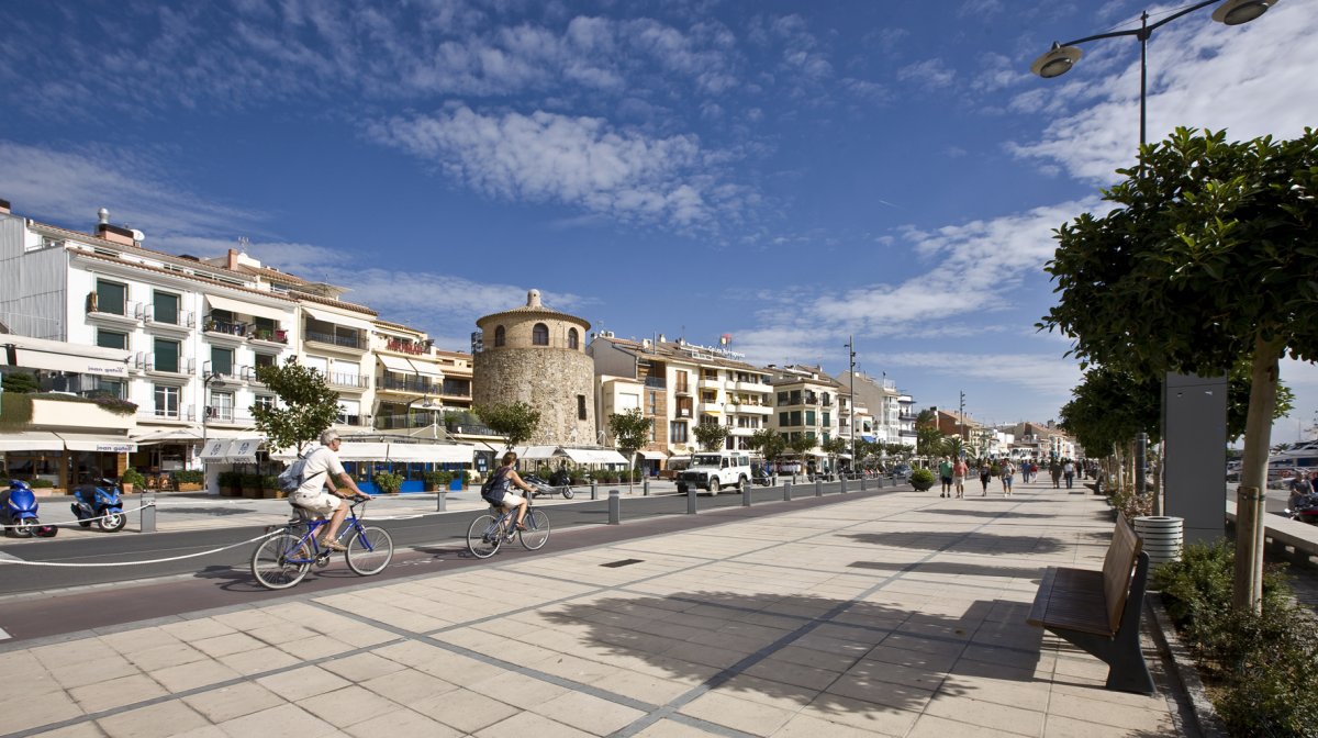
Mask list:
POLYGON ((1272 412, 1277 406, 1277 360, 1281 341, 1253 341, 1249 368, 1249 411, 1244 424, 1244 459, 1236 488, 1235 586, 1231 606, 1238 611, 1263 608, 1264 490, 1268 488, 1268 448, 1272 412))

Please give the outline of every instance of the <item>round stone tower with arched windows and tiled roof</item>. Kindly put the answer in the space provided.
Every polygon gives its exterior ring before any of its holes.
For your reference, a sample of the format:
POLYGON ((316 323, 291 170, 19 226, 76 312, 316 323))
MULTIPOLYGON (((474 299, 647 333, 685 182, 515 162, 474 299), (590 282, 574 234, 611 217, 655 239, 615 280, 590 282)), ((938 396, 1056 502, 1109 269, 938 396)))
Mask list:
POLYGON ((476 320, 481 351, 473 356, 476 406, 522 401, 540 411, 532 444, 594 445, 594 362, 585 353, 590 323, 540 304, 476 320))

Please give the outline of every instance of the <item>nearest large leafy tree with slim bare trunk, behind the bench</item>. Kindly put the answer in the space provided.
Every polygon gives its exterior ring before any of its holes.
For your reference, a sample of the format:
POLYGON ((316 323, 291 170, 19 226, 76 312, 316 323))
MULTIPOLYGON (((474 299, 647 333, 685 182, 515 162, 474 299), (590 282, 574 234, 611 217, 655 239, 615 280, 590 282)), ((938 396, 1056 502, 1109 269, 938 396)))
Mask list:
POLYGON ((1115 210, 1057 229, 1060 297, 1040 327, 1072 336, 1082 368, 1140 381, 1249 362, 1232 605, 1257 610, 1277 364, 1318 358, 1318 133, 1227 142, 1178 128, 1140 158, 1103 194, 1115 210))

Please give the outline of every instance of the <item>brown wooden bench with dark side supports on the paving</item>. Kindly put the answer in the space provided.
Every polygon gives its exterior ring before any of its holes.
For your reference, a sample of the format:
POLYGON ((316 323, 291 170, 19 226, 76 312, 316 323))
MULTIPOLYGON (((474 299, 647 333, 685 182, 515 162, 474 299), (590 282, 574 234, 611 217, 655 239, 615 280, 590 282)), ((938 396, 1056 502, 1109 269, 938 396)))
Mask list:
POLYGON ((1118 515, 1103 569, 1049 567, 1025 622, 1043 626, 1108 666, 1107 688, 1153 693, 1140 651, 1140 615, 1149 555, 1126 518, 1118 515))

